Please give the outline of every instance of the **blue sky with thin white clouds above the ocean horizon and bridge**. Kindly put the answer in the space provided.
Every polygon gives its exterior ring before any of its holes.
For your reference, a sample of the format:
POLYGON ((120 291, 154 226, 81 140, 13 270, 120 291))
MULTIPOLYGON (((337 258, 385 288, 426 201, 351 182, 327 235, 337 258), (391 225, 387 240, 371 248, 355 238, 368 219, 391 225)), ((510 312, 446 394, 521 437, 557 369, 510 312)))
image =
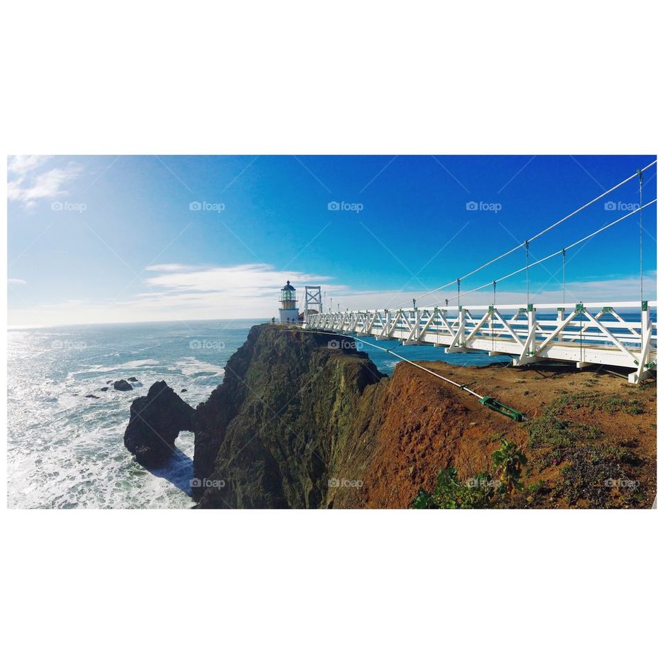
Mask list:
MULTIPOLYGON (((335 308, 398 306, 533 236, 653 160, 10 157, 9 324, 270 317, 286 279, 299 294, 305 282, 322 284, 335 308)), ((655 174, 656 166, 644 174, 644 203, 656 196, 655 174)), ((634 178, 534 241, 531 261, 636 203, 634 178)), ((643 210, 649 299, 655 208, 643 210)), ((567 301, 639 299, 637 220, 635 214, 570 252, 567 301)), ((465 280, 463 290, 524 264, 524 250, 514 252, 465 280)), ((530 270, 531 302, 560 302, 560 266, 554 258, 530 270)), ((525 288, 523 274, 501 282, 497 302, 525 302, 525 288)), ((491 301, 490 288, 464 300, 491 301)))

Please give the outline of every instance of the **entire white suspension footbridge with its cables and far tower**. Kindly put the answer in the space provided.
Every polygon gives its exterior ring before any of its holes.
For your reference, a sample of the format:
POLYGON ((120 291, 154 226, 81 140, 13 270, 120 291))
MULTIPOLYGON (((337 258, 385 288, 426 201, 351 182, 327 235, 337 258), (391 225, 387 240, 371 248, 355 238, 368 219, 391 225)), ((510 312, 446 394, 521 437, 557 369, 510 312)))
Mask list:
MULTIPOLYGON (((585 203, 559 221, 538 232, 507 252, 474 268, 469 273, 453 279, 448 284, 424 293, 412 301, 412 306, 383 308, 374 311, 324 311, 320 286, 305 287, 304 328, 355 335, 373 336, 377 340, 398 340, 404 346, 432 344, 443 347, 445 353, 470 353, 482 351, 490 356, 508 355, 513 365, 523 366, 544 359, 574 362, 579 368, 588 365, 606 365, 633 369, 629 382, 638 383, 652 376, 657 365, 656 302, 643 299, 643 219, 642 211, 654 205, 656 199, 643 203, 643 173, 653 167, 653 161, 643 169, 618 183, 611 189, 585 203), (562 250, 530 263, 530 244, 546 232, 564 223, 604 196, 638 178, 639 205, 628 214, 598 228, 562 250), (562 256, 562 293, 564 296, 564 268, 566 252, 571 248, 604 232, 608 228, 638 214, 640 246, 640 299, 629 302, 531 302, 528 287, 528 271, 555 256, 562 256), (461 292, 465 279, 495 264, 519 249, 525 249, 526 264, 508 275, 461 292), (526 277, 526 302, 495 304, 496 286, 504 279, 519 273, 526 277), (417 306, 417 301, 445 288, 456 286, 457 295, 430 306, 417 306), (462 304, 465 295, 493 287, 493 302, 487 304, 462 304), (443 305, 444 306, 440 306, 443 305), (450 306, 450 302, 456 302, 450 306), (309 307, 315 306, 317 313, 309 307), (638 312, 638 315, 634 315, 638 312), (632 319, 632 320, 627 320, 632 319)), ((410 304, 410 303, 409 303, 410 304)))

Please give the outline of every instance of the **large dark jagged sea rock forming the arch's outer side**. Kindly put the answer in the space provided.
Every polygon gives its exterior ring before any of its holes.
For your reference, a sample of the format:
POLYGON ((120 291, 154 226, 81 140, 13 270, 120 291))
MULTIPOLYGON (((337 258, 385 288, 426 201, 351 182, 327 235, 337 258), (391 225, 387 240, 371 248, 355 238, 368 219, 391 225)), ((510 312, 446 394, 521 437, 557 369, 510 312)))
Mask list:
POLYGON ((160 380, 150 387, 147 396, 131 403, 124 446, 142 465, 163 465, 174 452, 178 434, 194 431, 195 414, 189 404, 160 380))

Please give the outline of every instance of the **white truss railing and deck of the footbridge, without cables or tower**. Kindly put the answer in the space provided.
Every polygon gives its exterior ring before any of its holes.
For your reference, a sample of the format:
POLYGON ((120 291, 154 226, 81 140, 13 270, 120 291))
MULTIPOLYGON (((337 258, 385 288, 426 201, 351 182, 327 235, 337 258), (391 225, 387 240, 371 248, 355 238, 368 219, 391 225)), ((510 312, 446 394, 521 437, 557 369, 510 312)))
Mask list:
POLYGON ((656 302, 468 305, 308 315, 306 327, 405 345, 434 344, 447 353, 488 351, 515 365, 542 358, 634 368, 638 382, 656 366, 656 302))

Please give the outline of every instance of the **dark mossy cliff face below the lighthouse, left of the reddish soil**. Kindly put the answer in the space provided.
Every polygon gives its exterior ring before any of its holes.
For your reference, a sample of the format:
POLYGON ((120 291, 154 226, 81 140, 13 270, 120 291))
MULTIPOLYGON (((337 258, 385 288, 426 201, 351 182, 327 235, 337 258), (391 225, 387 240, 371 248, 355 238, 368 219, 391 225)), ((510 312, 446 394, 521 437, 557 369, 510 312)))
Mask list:
POLYGON ((358 427, 381 380, 346 338, 255 326, 196 409, 194 496, 206 508, 318 508, 368 460, 358 427), (363 456, 364 455, 364 456, 363 456))

